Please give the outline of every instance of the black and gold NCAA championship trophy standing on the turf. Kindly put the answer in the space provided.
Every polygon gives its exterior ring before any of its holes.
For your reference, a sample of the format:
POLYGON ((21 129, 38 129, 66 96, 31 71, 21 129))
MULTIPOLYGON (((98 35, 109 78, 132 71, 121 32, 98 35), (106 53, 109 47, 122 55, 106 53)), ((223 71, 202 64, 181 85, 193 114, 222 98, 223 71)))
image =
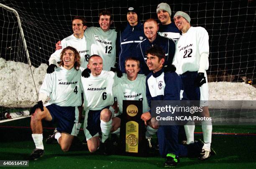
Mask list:
POLYGON ((123 100, 123 113, 120 127, 122 154, 129 156, 146 156, 146 128, 141 119, 142 101, 123 100))

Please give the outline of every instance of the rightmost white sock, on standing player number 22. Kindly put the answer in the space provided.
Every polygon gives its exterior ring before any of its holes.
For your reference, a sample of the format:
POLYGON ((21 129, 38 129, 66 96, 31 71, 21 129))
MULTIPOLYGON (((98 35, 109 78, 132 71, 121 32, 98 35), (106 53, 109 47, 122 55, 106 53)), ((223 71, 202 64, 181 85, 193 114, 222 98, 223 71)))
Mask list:
POLYGON ((210 149, 212 142, 212 122, 202 121, 202 132, 205 143, 203 148, 210 149))

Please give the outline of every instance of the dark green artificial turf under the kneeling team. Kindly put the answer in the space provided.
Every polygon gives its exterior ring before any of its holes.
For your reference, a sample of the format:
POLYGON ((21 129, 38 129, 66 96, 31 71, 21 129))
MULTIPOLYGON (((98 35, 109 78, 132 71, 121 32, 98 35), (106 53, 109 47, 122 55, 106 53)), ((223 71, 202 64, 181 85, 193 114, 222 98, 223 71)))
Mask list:
MULTIPOLYGON (((0 123, 0 160, 25 160, 35 148, 29 128, 30 118, 0 123)), ((105 156, 91 154, 87 146, 81 144, 83 131, 79 132, 69 152, 62 152, 58 144, 45 144, 45 138, 52 134, 51 124, 43 123, 44 156, 30 161, 30 168, 44 169, 154 169, 163 168, 164 159, 156 152, 150 157, 129 157, 120 155, 105 156), (48 128, 49 127, 49 128, 48 128)), ((201 127, 195 129, 195 139, 201 138, 201 127)), ((213 126, 212 147, 216 156, 200 161, 197 158, 182 157, 176 168, 256 168, 256 126, 213 126), (230 134, 231 133, 231 134, 230 134), (243 134, 232 134, 243 133, 243 134)), ((118 147, 113 147, 117 148, 118 147)))

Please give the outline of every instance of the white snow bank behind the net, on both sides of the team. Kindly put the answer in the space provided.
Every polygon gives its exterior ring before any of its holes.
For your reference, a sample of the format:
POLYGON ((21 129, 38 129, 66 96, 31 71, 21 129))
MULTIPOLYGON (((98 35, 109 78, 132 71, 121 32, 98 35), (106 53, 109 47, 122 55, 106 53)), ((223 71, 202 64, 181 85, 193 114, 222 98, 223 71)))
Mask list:
MULTIPOLYGON (((31 68, 39 91, 47 65, 31 68)), ((256 88, 244 82, 210 82, 209 100, 256 100, 256 88)), ((0 58, 0 106, 31 107, 36 102, 36 90, 28 64, 0 58)))

